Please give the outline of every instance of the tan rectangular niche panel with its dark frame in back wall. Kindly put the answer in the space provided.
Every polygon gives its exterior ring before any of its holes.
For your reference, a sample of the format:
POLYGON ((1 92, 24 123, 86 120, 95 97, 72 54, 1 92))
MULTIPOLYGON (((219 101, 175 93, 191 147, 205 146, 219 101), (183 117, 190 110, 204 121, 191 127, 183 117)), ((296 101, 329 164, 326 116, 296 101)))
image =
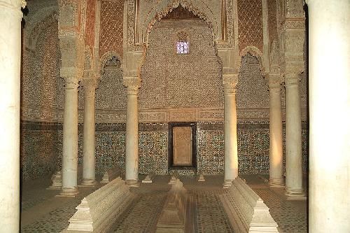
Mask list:
POLYGON ((195 122, 169 122, 169 169, 197 169, 195 122))

